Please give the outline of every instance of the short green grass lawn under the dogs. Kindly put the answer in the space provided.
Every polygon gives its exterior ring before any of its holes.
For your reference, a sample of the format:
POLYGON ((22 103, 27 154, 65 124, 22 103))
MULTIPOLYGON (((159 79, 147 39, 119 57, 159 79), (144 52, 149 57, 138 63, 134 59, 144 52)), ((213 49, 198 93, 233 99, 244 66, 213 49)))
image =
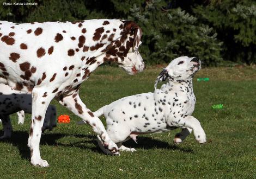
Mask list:
MULTIPOLYGON (((119 68, 99 67, 84 82, 80 96, 93 111, 127 95, 153 91, 161 67, 149 67, 131 76, 119 68)), ((11 116, 13 136, 0 142, 1 178, 256 178, 256 68, 209 68, 194 80, 197 97, 193 116, 199 119, 208 142, 199 144, 193 135, 174 145, 179 130, 138 137, 126 142, 136 152, 121 156, 102 154, 89 126, 53 101, 58 115, 69 114, 70 124, 58 124, 41 138, 41 156, 48 168, 33 167, 27 147, 30 115, 25 125, 11 116), (223 104, 222 110, 211 105, 223 104)), ((103 119, 103 118, 101 118, 103 119)), ((0 135, 3 134, 0 127, 0 135)))

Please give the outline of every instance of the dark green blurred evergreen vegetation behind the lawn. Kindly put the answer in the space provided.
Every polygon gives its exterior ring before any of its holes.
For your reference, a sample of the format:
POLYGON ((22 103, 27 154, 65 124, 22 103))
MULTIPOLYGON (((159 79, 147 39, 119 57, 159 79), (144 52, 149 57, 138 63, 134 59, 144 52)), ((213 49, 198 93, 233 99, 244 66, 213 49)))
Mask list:
POLYGON ((148 64, 181 55, 206 66, 256 63, 254 0, 38 0, 38 5, 3 5, 0 20, 16 23, 93 18, 132 20, 143 30, 140 53, 148 64))

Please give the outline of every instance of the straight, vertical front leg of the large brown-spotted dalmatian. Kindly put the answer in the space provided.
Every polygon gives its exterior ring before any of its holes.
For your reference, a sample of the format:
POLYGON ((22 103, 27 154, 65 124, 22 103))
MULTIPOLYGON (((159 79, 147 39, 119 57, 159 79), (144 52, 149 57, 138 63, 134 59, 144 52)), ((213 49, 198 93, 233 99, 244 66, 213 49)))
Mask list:
POLYGON ((31 163, 41 167, 48 167, 47 161, 41 159, 39 144, 45 113, 54 95, 47 95, 47 97, 42 98, 44 92, 40 88, 33 88, 32 91, 32 123, 28 138, 28 147, 31 150, 31 163))

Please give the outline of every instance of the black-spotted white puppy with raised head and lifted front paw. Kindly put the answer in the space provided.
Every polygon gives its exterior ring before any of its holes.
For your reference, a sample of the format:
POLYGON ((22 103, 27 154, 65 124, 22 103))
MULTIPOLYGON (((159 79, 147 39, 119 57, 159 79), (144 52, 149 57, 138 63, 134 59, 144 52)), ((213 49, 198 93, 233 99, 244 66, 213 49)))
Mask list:
MULTIPOLYGON (((103 106, 95 116, 102 114, 106 118, 107 133, 120 150, 135 151, 126 148, 123 142, 132 138, 136 142, 139 134, 164 132, 182 127, 175 135, 174 142, 181 143, 191 132, 199 143, 206 142, 206 136, 199 121, 192 115, 196 97, 193 93, 192 78, 200 69, 197 57, 181 56, 169 63, 157 77, 154 93, 142 93, 121 98, 103 106), (159 80, 168 80, 161 89, 156 89, 159 80)), ((78 124, 82 124, 78 122, 78 124)), ((100 148, 106 154, 101 139, 97 137, 100 148)))

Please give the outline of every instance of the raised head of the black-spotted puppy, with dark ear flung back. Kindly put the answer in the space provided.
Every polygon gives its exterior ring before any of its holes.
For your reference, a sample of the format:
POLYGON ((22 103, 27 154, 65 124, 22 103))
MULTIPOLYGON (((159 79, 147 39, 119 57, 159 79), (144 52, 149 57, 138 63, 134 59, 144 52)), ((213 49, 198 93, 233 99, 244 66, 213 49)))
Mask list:
POLYGON ((199 71, 201 62, 198 57, 180 56, 172 60, 169 65, 163 68, 163 71, 157 76, 155 89, 159 81, 175 80, 186 81, 193 78, 199 71))

